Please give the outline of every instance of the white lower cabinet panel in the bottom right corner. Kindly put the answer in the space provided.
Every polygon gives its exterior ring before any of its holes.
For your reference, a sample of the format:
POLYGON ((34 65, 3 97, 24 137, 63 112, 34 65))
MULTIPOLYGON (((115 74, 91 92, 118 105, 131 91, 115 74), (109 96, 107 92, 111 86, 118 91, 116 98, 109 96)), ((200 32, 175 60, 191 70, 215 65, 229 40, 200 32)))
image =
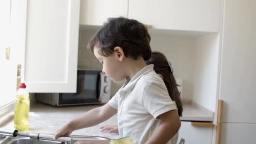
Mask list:
POLYGON ((221 144, 255 144, 256 124, 223 123, 221 144))

